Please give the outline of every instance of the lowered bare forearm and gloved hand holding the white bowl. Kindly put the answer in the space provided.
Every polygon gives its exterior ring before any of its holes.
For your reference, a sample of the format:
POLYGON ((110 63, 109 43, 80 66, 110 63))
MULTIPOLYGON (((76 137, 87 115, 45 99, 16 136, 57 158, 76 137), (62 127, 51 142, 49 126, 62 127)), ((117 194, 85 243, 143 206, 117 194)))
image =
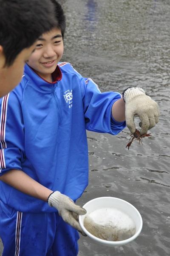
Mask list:
POLYGON ((25 172, 17 169, 12 169, 4 173, 0 176, 0 180, 18 189, 20 192, 48 202, 49 206, 55 207, 58 210, 59 215, 65 222, 76 228, 85 236, 85 233, 79 225, 78 215, 85 214, 86 210, 74 204, 74 201, 68 198, 68 196, 61 194, 59 191, 54 192, 42 186, 25 172))

